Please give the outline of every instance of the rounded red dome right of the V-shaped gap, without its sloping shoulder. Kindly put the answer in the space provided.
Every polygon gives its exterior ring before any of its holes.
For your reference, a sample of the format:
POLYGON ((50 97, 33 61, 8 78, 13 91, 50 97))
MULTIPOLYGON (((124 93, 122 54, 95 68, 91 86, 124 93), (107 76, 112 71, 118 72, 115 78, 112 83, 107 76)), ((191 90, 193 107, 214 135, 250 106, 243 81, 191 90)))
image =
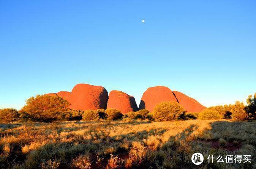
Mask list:
POLYGON ((156 104, 171 101, 177 102, 177 99, 173 95, 171 89, 165 86, 151 87, 143 93, 141 103, 139 104, 139 110, 147 109, 149 111, 153 111, 156 104))

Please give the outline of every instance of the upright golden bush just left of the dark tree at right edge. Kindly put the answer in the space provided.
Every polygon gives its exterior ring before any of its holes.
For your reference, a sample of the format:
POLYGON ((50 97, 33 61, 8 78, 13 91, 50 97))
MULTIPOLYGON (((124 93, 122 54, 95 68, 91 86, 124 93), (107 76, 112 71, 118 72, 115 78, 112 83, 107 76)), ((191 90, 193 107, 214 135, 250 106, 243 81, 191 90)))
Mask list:
POLYGON ((234 105, 231 106, 231 112, 232 112, 232 120, 234 121, 242 121, 246 120, 248 117, 248 114, 245 111, 245 105, 243 102, 236 101, 234 105))

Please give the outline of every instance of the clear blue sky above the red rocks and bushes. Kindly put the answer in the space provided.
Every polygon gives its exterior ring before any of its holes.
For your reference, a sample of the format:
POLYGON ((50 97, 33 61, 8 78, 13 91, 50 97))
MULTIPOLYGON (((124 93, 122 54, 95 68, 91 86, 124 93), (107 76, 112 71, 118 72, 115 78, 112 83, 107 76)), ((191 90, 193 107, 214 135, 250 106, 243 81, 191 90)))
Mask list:
POLYGON ((244 101, 256 92, 256 2, 0 0, 0 108, 77 83, 137 104, 156 85, 205 106, 244 101))

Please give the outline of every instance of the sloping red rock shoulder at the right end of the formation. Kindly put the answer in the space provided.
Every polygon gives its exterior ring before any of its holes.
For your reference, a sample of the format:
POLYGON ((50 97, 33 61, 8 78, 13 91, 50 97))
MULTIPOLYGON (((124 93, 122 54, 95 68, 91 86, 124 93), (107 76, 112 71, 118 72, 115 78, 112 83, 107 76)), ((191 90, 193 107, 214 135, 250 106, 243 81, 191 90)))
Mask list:
POLYGON ((188 97, 182 92, 173 91, 178 102, 185 108, 187 112, 199 112, 205 109, 205 106, 201 105, 195 99, 188 97))

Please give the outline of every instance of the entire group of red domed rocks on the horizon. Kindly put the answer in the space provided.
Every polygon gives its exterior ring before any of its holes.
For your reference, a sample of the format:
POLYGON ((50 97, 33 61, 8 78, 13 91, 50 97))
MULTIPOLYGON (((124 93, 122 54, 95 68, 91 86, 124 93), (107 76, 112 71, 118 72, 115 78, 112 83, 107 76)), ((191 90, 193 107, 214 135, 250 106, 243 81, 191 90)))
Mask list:
MULTIPOLYGON (((108 95, 107 90, 102 86, 88 84, 78 84, 71 92, 60 91, 47 95, 60 96, 71 103, 70 108, 74 110, 96 110, 100 108, 119 109, 123 114, 130 111, 137 111, 137 104, 133 96, 122 91, 111 91, 108 95)), ((195 99, 178 92, 171 91, 165 86, 155 86, 148 88, 142 95, 139 110, 147 109, 153 111, 156 104, 161 102, 178 102, 187 112, 199 112, 205 109, 195 99)))

